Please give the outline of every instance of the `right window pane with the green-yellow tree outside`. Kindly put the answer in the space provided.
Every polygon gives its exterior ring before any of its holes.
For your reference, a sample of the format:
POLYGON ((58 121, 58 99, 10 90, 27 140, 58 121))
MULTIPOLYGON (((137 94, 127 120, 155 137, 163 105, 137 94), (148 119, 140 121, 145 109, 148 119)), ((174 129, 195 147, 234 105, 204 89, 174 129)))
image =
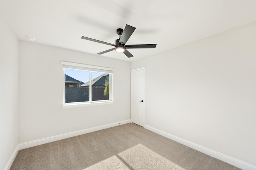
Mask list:
POLYGON ((109 100, 109 73, 92 72, 92 101, 109 100))

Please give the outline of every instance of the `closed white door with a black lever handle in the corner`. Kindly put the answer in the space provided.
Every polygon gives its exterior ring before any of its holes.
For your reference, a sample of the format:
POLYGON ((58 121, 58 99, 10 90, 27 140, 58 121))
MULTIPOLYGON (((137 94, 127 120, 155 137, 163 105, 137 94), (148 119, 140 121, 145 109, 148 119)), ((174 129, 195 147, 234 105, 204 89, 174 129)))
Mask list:
POLYGON ((131 70, 131 119, 144 127, 145 124, 145 67, 131 70))

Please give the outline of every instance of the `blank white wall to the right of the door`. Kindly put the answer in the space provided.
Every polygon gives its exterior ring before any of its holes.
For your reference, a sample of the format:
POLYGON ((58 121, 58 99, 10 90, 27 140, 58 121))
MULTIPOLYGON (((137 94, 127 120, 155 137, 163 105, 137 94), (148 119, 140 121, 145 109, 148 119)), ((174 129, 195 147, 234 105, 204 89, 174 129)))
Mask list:
POLYGON ((146 67, 146 125, 256 165, 255 30, 256 22, 133 62, 146 67))

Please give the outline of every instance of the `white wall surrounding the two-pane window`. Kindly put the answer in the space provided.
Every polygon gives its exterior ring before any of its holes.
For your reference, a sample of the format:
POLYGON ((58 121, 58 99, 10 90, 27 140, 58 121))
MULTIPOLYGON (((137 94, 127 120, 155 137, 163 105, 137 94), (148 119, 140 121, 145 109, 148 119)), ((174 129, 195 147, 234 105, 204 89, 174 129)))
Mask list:
POLYGON ((27 41, 19 46, 20 143, 130 119, 129 62, 27 41), (114 68, 114 104, 62 108, 61 61, 114 68))

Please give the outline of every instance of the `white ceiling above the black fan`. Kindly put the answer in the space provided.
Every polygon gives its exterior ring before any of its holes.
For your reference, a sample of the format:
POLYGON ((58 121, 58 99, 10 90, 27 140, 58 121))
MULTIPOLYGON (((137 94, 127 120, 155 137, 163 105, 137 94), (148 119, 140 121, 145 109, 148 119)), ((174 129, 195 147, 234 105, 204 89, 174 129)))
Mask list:
POLYGON ((126 44, 157 43, 156 49, 129 49, 136 61, 256 21, 256 0, 0 0, 0 14, 17 35, 35 43, 96 54, 115 43, 117 28, 136 30, 126 44))

